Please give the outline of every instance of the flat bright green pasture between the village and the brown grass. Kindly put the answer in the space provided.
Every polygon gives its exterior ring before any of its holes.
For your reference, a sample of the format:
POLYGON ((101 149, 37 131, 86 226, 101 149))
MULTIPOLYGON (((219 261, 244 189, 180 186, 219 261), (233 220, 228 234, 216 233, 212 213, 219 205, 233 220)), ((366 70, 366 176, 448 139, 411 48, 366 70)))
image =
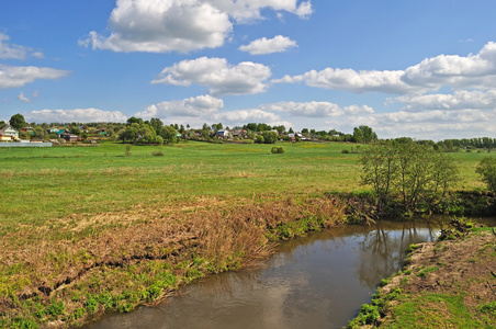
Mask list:
MULTIPOLYGON (((120 143, 0 148, 0 224, 41 224, 72 213, 122 211, 202 196, 283 198, 364 189, 358 154, 341 154, 357 146, 281 145, 285 152, 277 155, 271 154, 271 145, 194 141, 132 146, 129 156, 127 145, 120 143), (154 155, 158 151, 164 156, 154 155)), ((456 188, 482 189, 475 166, 487 152, 451 155, 461 173, 456 188)))

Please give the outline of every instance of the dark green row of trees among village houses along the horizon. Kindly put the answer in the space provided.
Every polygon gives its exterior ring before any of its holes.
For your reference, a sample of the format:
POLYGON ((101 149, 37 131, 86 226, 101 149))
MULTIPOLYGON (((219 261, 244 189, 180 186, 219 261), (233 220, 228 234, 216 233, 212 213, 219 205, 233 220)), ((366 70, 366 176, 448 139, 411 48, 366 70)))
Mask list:
MULTIPOLYGON (((21 138, 23 139, 50 139, 57 138, 56 134, 49 133, 50 127, 59 127, 66 132, 78 135, 81 139, 98 136, 98 133, 105 132, 105 137, 111 140, 122 140, 125 143, 139 143, 139 144, 171 144, 177 143, 179 138, 198 139, 211 141, 216 132, 226 131, 244 131, 247 139, 257 140, 257 136, 262 136, 263 132, 277 132, 275 137, 269 136, 269 141, 262 143, 275 143, 280 139, 288 140, 288 136, 296 134, 297 136, 305 137, 305 140, 316 141, 350 141, 359 144, 369 144, 377 141, 379 137, 373 128, 361 125, 354 127, 352 133, 342 133, 336 129, 329 131, 316 131, 313 128, 303 128, 301 132, 295 132, 293 127, 285 127, 284 125, 271 126, 266 123, 248 123, 243 126, 224 126, 222 123, 206 124, 204 123, 201 128, 192 128, 189 124, 166 125, 160 118, 151 118, 145 121, 139 117, 132 116, 125 123, 111 123, 111 122, 93 122, 93 123, 27 123, 22 114, 14 114, 9 122, 0 121, 0 129, 5 125, 11 125, 15 129, 21 132, 21 138), (31 127, 31 132, 23 132, 25 127, 31 127), (179 135, 181 137, 179 137, 179 135), (179 138, 178 138, 179 137, 179 138)), ((264 135, 268 136, 267 134, 264 135)), ((408 139, 414 140, 410 137, 395 138, 397 140, 408 139)), ((260 138, 258 139, 260 140, 260 138)), ((433 140, 416 140, 420 144, 431 145, 436 149, 443 151, 458 151, 460 148, 475 148, 485 149, 491 152, 496 148, 496 138, 478 137, 478 138, 462 138, 462 139, 444 139, 440 141, 433 140)))

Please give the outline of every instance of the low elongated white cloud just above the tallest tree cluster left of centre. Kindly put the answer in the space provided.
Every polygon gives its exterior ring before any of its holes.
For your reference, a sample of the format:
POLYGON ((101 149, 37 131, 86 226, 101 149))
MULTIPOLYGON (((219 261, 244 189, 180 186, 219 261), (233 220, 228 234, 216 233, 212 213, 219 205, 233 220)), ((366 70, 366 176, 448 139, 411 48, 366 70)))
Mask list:
POLYGON ((224 107, 224 101, 211 95, 200 95, 182 101, 161 102, 149 105, 143 112, 135 114, 137 117, 149 120, 151 117, 165 118, 169 116, 205 116, 216 113, 224 107))

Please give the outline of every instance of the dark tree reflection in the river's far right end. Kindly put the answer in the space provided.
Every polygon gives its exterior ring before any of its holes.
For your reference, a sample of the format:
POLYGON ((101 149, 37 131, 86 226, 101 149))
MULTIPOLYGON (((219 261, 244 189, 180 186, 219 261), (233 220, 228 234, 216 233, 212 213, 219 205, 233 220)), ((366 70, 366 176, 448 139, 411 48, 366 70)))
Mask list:
POLYGON ((436 229, 429 224, 418 226, 405 222, 392 229, 381 224, 364 234, 359 243, 358 276, 360 283, 374 288, 377 283, 402 269, 409 245, 436 239, 436 229))

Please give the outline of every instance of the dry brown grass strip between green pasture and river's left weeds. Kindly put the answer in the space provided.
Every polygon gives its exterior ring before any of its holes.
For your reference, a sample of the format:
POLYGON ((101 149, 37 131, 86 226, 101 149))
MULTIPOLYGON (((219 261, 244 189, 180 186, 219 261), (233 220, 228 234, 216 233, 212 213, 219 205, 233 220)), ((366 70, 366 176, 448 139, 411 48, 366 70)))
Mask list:
MULTIPOLYGON (((173 206, 71 215, 30 232, 13 232, 1 246, 0 314, 22 316, 15 299, 57 298, 70 313, 84 302, 71 300, 76 291, 88 295, 146 288, 129 277, 149 272, 154 262, 174 269, 178 277, 188 275, 195 260, 202 260, 195 270, 203 274, 251 266, 271 254, 274 245, 269 237, 277 236, 278 228, 309 217, 312 225, 332 226, 343 220, 343 208, 329 197, 237 200, 236 206, 202 197, 173 206), (50 226, 66 237, 50 235, 50 226)), ((298 234, 302 230, 295 230, 298 234)))

